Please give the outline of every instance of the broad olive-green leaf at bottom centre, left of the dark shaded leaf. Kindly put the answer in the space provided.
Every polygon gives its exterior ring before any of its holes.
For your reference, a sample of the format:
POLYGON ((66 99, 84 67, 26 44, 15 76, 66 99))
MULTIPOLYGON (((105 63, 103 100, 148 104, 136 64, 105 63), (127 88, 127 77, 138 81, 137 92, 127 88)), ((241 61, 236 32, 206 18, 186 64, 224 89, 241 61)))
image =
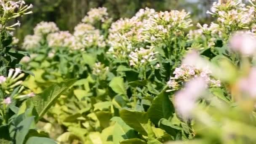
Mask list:
POLYGON ((123 109, 120 111, 120 117, 131 128, 134 128, 142 135, 147 136, 147 130, 143 127, 143 124, 148 122, 148 115, 146 112, 123 109))

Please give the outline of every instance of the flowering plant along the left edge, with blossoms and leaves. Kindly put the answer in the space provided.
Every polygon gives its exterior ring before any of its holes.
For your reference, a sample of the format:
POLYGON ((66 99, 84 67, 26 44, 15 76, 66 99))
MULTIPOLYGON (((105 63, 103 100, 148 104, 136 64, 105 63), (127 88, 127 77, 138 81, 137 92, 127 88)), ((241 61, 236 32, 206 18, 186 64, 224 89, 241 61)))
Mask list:
POLYGON ((8 22, 31 14, 32 5, 26 5, 23 0, 0 0, 0 4, 0 144, 33 144, 35 141, 56 144, 35 124, 75 80, 50 86, 39 95, 22 84, 27 77, 25 73, 32 73, 21 70, 19 61, 29 54, 13 48, 16 38, 12 30, 20 23, 9 25, 8 22))

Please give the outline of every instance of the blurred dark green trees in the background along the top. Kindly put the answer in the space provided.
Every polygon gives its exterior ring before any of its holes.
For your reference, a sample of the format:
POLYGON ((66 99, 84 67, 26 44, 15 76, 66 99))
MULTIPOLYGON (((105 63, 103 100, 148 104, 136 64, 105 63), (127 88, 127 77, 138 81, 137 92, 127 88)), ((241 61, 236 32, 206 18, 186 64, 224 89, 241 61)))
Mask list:
POLYGON ((216 0, 25 0, 34 5, 33 14, 24 16, 21 27, 16 30, 21 40, 32 34, 33 27, 40 21, 54 21, 61 30, 73 31, 90 8, 107 7, 114 20, 120 17, 132 17, 140 8, 154 8, 156 11, 185 9, 192 13, 195 23, 207 23, 210 17, 206 11, 216 0))

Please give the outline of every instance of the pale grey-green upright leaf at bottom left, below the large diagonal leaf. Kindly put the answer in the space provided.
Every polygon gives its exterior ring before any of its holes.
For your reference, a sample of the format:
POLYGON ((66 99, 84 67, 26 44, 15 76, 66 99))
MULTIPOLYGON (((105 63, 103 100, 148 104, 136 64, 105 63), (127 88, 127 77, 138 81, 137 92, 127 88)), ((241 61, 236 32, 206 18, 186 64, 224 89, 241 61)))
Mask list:
POLYGON ((34 117, 28 117, 24 120, 22 120, 19 125, 16 126, 16 144, 23 144, 25 136, 29 132, 29 128, 32 125, 32 122, 34 121, 34 117))

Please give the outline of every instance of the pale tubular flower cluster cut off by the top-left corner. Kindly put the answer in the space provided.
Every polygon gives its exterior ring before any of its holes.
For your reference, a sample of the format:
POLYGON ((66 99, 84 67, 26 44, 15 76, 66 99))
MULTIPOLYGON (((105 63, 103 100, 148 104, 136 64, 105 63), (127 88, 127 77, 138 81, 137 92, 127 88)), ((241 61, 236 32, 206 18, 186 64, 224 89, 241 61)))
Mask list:
POLYGON ((0 29, 14 29, 15 26, 20 26, 19 21, 11 26, 6 26, 9 20, 17 17, 30 14, 29 11, 33 7, 32 4, 25 5, 24 0, 13 1, 13 0, 0 0, 0 29))

